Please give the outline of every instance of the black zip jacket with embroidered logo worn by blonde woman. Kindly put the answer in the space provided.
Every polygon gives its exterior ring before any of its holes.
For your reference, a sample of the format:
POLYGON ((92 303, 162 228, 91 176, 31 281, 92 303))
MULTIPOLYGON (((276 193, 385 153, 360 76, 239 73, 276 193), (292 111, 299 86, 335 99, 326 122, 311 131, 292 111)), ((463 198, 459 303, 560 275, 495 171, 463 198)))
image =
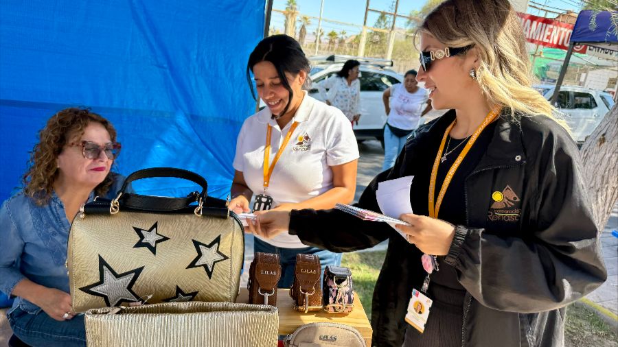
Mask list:
MULTIPOLYGON (((453 119, 451 110, 417 130, 393 169, 369 184, 357 206, 380 211, 378 182, 415 175, 421 169, 415 163, 433 160, 453 119)), ((606 279, 599 232, 569 134, 548 117, 509 119, 496 120, 487 151, 465 180, 467 223, 456 227, 445 258, 467 291, 461 346, 562 346, 564 307, 606 279), (492 200, 495 191, 508 203, 492 200)), ((292 211, 290 234, 335 252, 389 238, 374 289, 372 344, 401 346, 411 291, 425 276, 420 250, 385 223, 337 210, 292 211)))

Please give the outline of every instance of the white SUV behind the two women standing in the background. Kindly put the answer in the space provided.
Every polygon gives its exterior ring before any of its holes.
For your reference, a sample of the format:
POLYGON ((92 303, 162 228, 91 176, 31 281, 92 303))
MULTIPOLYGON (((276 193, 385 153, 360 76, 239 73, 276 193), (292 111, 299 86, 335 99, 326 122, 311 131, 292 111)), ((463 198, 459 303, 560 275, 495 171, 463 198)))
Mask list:
MULTIPOLYGON (((328 61, 332 57, 325 58, 328 61)), ((387 121, 387 116, 382 102, 382 93, 393 84, 403 83, 403 76, 395 71, 385 69, 386 64, 392 64, 389 60, 369 60, 367 58, 354 58, 348 56, 336 56, 336 62, 328 64, 319 57, 312 57, 310 60, 314 62, 311 69, 310 77, 312 86, 309 95, 324 101, 318 93, 316 84, 323 80, 332 77, 335 73, 341 70, 343 62, 347 59, 356 59, 361 62, 361 75, 358 77, 361 80, 361 119, 354 123, 353 129, 358 141, 368 139, 378 139, 384 141, 384 125, 387 121)))

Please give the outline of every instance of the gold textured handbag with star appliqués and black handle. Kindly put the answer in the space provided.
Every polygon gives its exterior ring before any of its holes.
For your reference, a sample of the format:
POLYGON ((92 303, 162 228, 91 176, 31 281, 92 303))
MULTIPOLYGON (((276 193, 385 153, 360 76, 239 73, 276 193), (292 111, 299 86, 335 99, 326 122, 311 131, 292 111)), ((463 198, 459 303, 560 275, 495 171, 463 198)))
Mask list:
POLYGON ((183 301, 236 301, 244 230, 225 201, 191 171, 153 168, 128 176, 112 201, 82 206, 69 231, 73 311, 183 301), (130 193, 141 178, 176 177, 202 187, 187 198, 130 193))

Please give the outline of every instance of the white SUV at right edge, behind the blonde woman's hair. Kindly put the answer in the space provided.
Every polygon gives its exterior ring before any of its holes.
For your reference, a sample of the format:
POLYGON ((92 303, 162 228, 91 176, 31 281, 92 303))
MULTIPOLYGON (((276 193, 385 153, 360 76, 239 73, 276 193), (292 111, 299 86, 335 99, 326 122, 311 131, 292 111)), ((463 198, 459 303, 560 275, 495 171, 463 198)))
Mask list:
MULTIPOLYGON (((549 100, 556 86, 540 85, 535 88, 549 100)), ((610 93, 580 86, 560 86, 556 102, 556 107, 564 113, 564 120, 569 124, 577 143, 586 141, 586 137, 597 128, 613 106, 614 99, 610 93)))

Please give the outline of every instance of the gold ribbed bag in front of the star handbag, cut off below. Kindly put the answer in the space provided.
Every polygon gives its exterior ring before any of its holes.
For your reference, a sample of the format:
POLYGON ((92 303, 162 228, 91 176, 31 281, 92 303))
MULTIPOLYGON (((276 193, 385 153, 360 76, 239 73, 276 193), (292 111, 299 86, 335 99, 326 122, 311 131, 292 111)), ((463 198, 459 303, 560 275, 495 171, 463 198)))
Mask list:
POLYGON ((170 302, 91 309, 85 315, 89 347, 277 346, 276 307, 231 302, 170 302))

